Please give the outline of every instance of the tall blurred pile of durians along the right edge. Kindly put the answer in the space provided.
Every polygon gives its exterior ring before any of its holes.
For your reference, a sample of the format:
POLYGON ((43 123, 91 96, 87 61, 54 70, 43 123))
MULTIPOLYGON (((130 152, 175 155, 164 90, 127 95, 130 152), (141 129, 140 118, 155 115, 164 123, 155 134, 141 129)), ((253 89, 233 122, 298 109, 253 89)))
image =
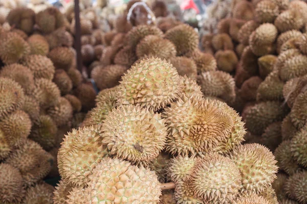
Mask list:
MULTIPOLYGON (((307 203, 306 15, 303 1, 260 1, 253 19, 237 33, 243 52, 237 52, 234 107, 243 110, 246 143, 260 143, 274 152, 279 172, 273 188, 281 204, 307 203)), ((225 19, 218 28, 229 26, 225 19)), ((220 32, 211 39, 204 36, 207 50, 216 42, 231 45, 226 37, 213 41, 228 34, 220 32)))

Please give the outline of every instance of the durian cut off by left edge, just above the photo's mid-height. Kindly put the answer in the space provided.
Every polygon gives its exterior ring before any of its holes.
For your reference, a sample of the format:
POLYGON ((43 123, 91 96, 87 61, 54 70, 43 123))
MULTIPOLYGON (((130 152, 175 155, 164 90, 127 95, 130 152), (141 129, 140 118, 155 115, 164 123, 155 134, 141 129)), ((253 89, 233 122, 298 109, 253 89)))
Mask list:
POLYGON ((25 93, 15 81, 0 78, 0 118, 3 118, 23 106, 25 93))

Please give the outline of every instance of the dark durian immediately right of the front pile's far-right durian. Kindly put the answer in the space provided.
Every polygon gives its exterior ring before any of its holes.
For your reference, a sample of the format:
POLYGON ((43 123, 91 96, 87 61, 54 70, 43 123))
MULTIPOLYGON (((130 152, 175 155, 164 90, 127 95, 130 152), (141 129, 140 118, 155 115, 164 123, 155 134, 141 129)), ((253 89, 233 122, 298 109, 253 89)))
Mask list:
POLYGON ((291 142, 289 140, 285 140, 278 145, 274 151, 274 155, 278 161, 279 168, 289 175, 293 175, 295 172, 301 170, 301 167, 292 157, 291 142))

